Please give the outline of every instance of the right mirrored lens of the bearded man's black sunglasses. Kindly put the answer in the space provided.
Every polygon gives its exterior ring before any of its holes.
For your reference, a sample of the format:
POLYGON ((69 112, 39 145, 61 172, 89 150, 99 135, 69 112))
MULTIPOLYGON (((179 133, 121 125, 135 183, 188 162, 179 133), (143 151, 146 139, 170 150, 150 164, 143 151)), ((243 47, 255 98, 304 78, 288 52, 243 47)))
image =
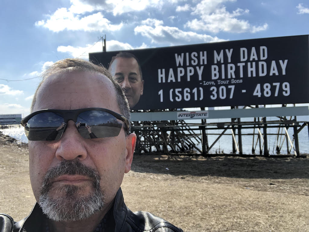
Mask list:
POLYGON ((105 138, 118 136, 122 123, 108 112, 91 110, 78 115, 77 127, 84 138, 105 138))

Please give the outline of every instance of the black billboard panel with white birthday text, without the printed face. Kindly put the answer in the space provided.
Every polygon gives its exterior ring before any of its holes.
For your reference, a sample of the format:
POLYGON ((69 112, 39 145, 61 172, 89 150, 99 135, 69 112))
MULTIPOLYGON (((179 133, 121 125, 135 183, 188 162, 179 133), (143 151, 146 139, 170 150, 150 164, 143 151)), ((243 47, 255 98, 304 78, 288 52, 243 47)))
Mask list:
MULTIPOLYGON (((119 52, 89 60, 109 67, 119 52)), ((124 52, 138 58, 144 81, 132 109, 309 102, 308 35, 124 52)))

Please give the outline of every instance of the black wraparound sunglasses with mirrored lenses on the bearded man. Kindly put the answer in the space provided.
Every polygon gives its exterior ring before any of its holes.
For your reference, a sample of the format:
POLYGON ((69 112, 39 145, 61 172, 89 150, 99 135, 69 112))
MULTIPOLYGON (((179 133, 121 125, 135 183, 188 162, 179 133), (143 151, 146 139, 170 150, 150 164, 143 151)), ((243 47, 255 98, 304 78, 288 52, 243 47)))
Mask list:
POLYGON ((75 122, 83 138, 105 138, 119 135, 122 123, 117 119, 125 123, 125 131, 129 133, 128 119, 104 108, 39 110, 26 116, 21 120, 21 124, 30 141, 59 140, 69 120, 75 122))

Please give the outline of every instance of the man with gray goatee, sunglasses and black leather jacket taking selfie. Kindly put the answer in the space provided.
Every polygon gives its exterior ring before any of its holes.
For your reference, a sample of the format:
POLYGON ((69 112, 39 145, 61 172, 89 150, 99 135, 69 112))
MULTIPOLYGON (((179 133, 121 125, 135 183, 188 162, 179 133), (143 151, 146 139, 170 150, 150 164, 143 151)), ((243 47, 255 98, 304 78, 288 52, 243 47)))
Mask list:
POLYGON ((37 203, 19 222, 0 214, 0 231, 182 231, 124 203, 120 186, 136 135, 125 95, 108 70, 80 59, 54 63, 21 123, 37 203))

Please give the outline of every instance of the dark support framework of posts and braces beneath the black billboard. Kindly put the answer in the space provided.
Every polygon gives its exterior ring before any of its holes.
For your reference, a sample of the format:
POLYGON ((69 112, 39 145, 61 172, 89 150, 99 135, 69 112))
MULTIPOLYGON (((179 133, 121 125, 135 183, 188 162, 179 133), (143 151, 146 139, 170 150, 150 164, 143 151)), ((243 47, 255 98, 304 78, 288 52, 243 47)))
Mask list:
MULTIPOLYGON (((256 146, 259 144, 259 155, 264 154, 265 157, 269 157, 270 144, 268 144, 268 135, 275 135, 276 138, 273 151, 276 147, 276 153, 280 154, 281 148, 284 142, 286 142, 286 155, 289 155, 291 149, 293 149, 295 156, 300 157, 298 133, 307 126, 309 136, 309 123, 307 121, 298 122, 296 116, 294 116, 293 120, 292 116, 290 120, 286 120, 286 116, 278 116, 278 118, 279 120, 267 121, 266 117, 262 117, 261 120, 260 117, 254 117, 253 121, 243 122, 241 118, 238 117, 231 118, 231 122, 223 123, 206 123, 205 119, 201 119, 201 123, 189 123, 185 120, 134 121, 132 130, 138 135, 136 146, 137 154, 144 152, 161 154, 201 154, 208 156, 212 148, 223 135, 231 135, 232 155, 244 155, 242 137, 252 136, 252 155, 256 155, 256 146), (261 132, 261 128, 263 132, 261 132), (271 128, 277 128, 277 133, 267 133, 268 129, 271 128), (283 128, 285 130, 284 133, 282 131, 283 128), (289 128, 293 129, 293 140, 290 138, 289 128), (209 130, 218 129, 223 129, 223 131, 219 134, 208 133, 209 130), (228 129, 231 129, 231 133, 226 133, 228 129), (243 129, 253 129, 253 133, 243 133, 243 129), (209 146, 208 135, 214 134, 218 135, 218 137, 209 146), (236 136, 238 142, 236 141, 236 136)), ((221 153, 221 151, 219 150, 219 152, 217 152, 216 150, 216 153, 221 153)))

